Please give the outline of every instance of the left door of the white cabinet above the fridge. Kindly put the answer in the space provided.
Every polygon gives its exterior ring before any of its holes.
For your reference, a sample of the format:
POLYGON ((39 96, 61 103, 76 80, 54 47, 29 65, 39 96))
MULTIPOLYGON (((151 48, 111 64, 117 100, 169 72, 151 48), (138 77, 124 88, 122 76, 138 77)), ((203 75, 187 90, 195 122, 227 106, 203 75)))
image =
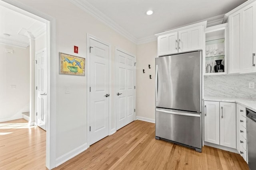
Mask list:
POLYGON ((158 56, 178 53, 178 32, 158 37, 158 56))

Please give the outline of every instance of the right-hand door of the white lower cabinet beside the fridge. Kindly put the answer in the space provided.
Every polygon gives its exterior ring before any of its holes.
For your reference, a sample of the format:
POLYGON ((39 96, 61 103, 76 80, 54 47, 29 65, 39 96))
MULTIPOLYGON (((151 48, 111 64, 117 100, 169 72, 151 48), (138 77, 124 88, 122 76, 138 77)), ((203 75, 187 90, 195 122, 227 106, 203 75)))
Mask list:
POLYGON ((220 102, 220 145, 236 148, 236 104, 220 102))

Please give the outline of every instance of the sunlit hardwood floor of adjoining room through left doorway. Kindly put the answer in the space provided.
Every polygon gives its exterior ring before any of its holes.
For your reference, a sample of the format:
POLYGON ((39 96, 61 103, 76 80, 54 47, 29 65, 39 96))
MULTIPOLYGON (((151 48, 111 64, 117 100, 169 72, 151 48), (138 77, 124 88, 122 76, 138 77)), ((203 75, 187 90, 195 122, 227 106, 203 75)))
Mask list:
POLYGON ((0 170, 45 170, 46 133, 17 119, 0 123, 0 170))

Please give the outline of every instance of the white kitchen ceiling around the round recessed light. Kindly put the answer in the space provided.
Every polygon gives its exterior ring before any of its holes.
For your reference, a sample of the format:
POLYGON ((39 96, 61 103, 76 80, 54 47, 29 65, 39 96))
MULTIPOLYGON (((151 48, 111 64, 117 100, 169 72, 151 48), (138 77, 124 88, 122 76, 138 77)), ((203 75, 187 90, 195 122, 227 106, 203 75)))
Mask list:
MULTIPOLYGON (((229 12, 246 0, 70 0, 139 41, 229 12), (91 9, 88 9, 91 8, 91 9), (146 16, 146 10, 154 14, 146 16)), ((223 16, 222 16, 223 17, 223 16)), ((122 32, 121 31, 121 32, 122 32)))

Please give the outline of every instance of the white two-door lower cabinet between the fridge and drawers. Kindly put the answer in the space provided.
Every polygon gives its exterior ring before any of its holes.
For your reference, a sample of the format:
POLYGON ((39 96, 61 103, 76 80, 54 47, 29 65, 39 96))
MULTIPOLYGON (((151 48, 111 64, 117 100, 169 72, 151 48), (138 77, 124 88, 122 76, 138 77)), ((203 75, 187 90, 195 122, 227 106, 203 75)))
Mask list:
POLYGON ((236 103, 204 101, 204 141, 236 149, 236 103))

